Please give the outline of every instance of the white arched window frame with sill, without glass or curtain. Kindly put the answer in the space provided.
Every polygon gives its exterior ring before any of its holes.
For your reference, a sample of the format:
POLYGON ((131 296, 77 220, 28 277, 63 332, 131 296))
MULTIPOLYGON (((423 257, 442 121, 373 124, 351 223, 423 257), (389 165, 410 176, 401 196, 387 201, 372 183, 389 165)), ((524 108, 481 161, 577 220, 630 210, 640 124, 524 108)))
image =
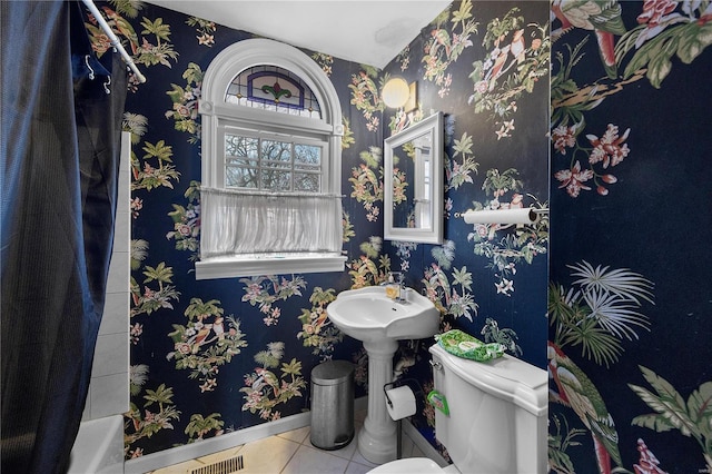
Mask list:
MULTIPOLYGON (((225 188, 225 146, 220 141, 226 127, 312 137, 326 144, 323 157, 322 194, 342 192, 342 109, 334 85, 307 55, 283 42, 256 38, 239 41, 222 50, 208 66, 202 80, 201 99, 201 187, 225 188), (316 96, 322 118, 298 117, 225 101, 233 79, 250 67, 271 65, 287 69, 306 82, 316 96)), ((205 213, 205 208, 202 209, 205 213)), ((342 221, 342 216, 337 216, 342 221)), ((201 221, 205 226, 205 220, 201 221)), ((202 244, 201 244, 202 248, 202 244)), ((202 250, 201 250, 202 253, 202 250)), ((204 254, 205 255, 205 254, 204 254)), ((290 273, 343 271, 342 253, 278 255, 227 255, 196 263, 196 279, 259 276, 290 273)))

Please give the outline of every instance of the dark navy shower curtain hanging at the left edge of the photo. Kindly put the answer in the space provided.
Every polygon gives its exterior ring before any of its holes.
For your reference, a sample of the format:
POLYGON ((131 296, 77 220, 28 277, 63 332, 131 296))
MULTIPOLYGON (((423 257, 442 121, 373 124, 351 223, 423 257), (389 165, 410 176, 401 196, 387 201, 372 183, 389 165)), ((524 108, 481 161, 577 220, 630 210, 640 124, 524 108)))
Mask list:
POLYGON ((127 75, 93 56, 79 2, 0 13, 2 472, 61 473, 103 312, 127 75))

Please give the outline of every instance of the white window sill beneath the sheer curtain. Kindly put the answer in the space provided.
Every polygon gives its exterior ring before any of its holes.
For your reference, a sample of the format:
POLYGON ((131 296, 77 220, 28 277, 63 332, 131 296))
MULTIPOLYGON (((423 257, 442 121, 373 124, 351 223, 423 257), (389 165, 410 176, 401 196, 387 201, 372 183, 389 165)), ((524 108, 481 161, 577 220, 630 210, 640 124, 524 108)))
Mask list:
POLYGON ((339 254, 240 255, 196 261, 196 279, 344 271, 339 254))

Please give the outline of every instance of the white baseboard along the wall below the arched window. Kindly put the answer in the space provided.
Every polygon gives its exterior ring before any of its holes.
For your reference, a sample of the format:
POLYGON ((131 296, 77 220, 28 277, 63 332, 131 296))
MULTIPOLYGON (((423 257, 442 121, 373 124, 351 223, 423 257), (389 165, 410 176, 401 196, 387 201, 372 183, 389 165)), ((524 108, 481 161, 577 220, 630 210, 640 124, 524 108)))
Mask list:
MULTIPOLYGON (((368 408, 368 398, 359 397, 354 401, 354 411, 368 408)), ((196 457, 207 456, 212 453, 229 450, 253 441, 263 440, 279 433, 298 429, 308 426, 312 422, 309 412, 298 413, 284 418, 226 433, 220 436, 204 440, 201 442, 184 444, 182 446, 147 454, 146 456, 129 460, 123 465, 125 474, 142 474, 174 464, 185 463, 196 457)), ((425 442, 427 444, 427 442, 425 442)))

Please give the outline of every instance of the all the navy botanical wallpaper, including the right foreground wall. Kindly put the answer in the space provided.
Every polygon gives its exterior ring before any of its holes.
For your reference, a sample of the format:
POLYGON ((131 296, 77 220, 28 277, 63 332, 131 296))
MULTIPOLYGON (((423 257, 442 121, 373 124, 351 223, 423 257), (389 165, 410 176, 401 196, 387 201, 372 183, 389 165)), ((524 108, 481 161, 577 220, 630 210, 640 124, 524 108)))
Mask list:
MULTIPOLYGON (((131 16, 98 2, 131 26, 148 79, 130 85, 125 109, 126 128, 135 134, 127 472, 148 465, 141 457, 169 458, 171 450, 303 415, 309 373, 327 359, 357 365, 356 397, 364 397, 360 344, 328 319, 314 322, 339 292, 379 284, 390 270, 441 305, 443 330, 500 342, 551 372, 552 471, 601 472, 594 448, 601 433, 580 405, 566 402, 574 394, 562 393, 571 386, 561 378, 575 374, 590 382, 575 399, 601 402, 599 415, 614 423, 611 466, 711 472, 712 413, 704 407, 712 399, 705 245, 712 98, 699 85, 712 70, 705 49, 712 11, 706 2, 659 1, 653 9, 653 2, 631 1, 619 2, 620 10, 612 2, 603 26, 584 8, 562 3, 456 1, 380 71, 308 51, 327 71, 346 127, 346 267, 196 280, 201 174, 195 100, 211 59, 251 34, 149 3, 131 16), (670 40, 673 31, 686 40, 670 40), (604 55, 611 43, 599 38, 613 40, 613 65, 604 55), (505 48, 522 45, 520 55, 497 62, 505 48), (416 83, 415 112, 398 116, 378 102, 385 73, 416 83), (435 111, 445 116, 445 240, 388 241, 377 187, 384 139, 435 111), (546 226, 517 234, 458 217, 520 203, 548 208, 546 226), (236 355, 210 361, 206 344, 195 358, 202 365, 179 356, 172 335, 195 327, 198 306, 208 318, 233 318, 241 335, 236 355), (250 402, 264 371, 289 383, 287 401, 266 389, 250 402), (670 394, 684 404, 655 417, 655 401, 670 394), (664 415, 673 412, 686 428, 666 424, 664 415)), ((395 369, 432 386, 432 343, 402 343, 395 369)), ((432 411, 407 423, 439 448, 432 411)))

